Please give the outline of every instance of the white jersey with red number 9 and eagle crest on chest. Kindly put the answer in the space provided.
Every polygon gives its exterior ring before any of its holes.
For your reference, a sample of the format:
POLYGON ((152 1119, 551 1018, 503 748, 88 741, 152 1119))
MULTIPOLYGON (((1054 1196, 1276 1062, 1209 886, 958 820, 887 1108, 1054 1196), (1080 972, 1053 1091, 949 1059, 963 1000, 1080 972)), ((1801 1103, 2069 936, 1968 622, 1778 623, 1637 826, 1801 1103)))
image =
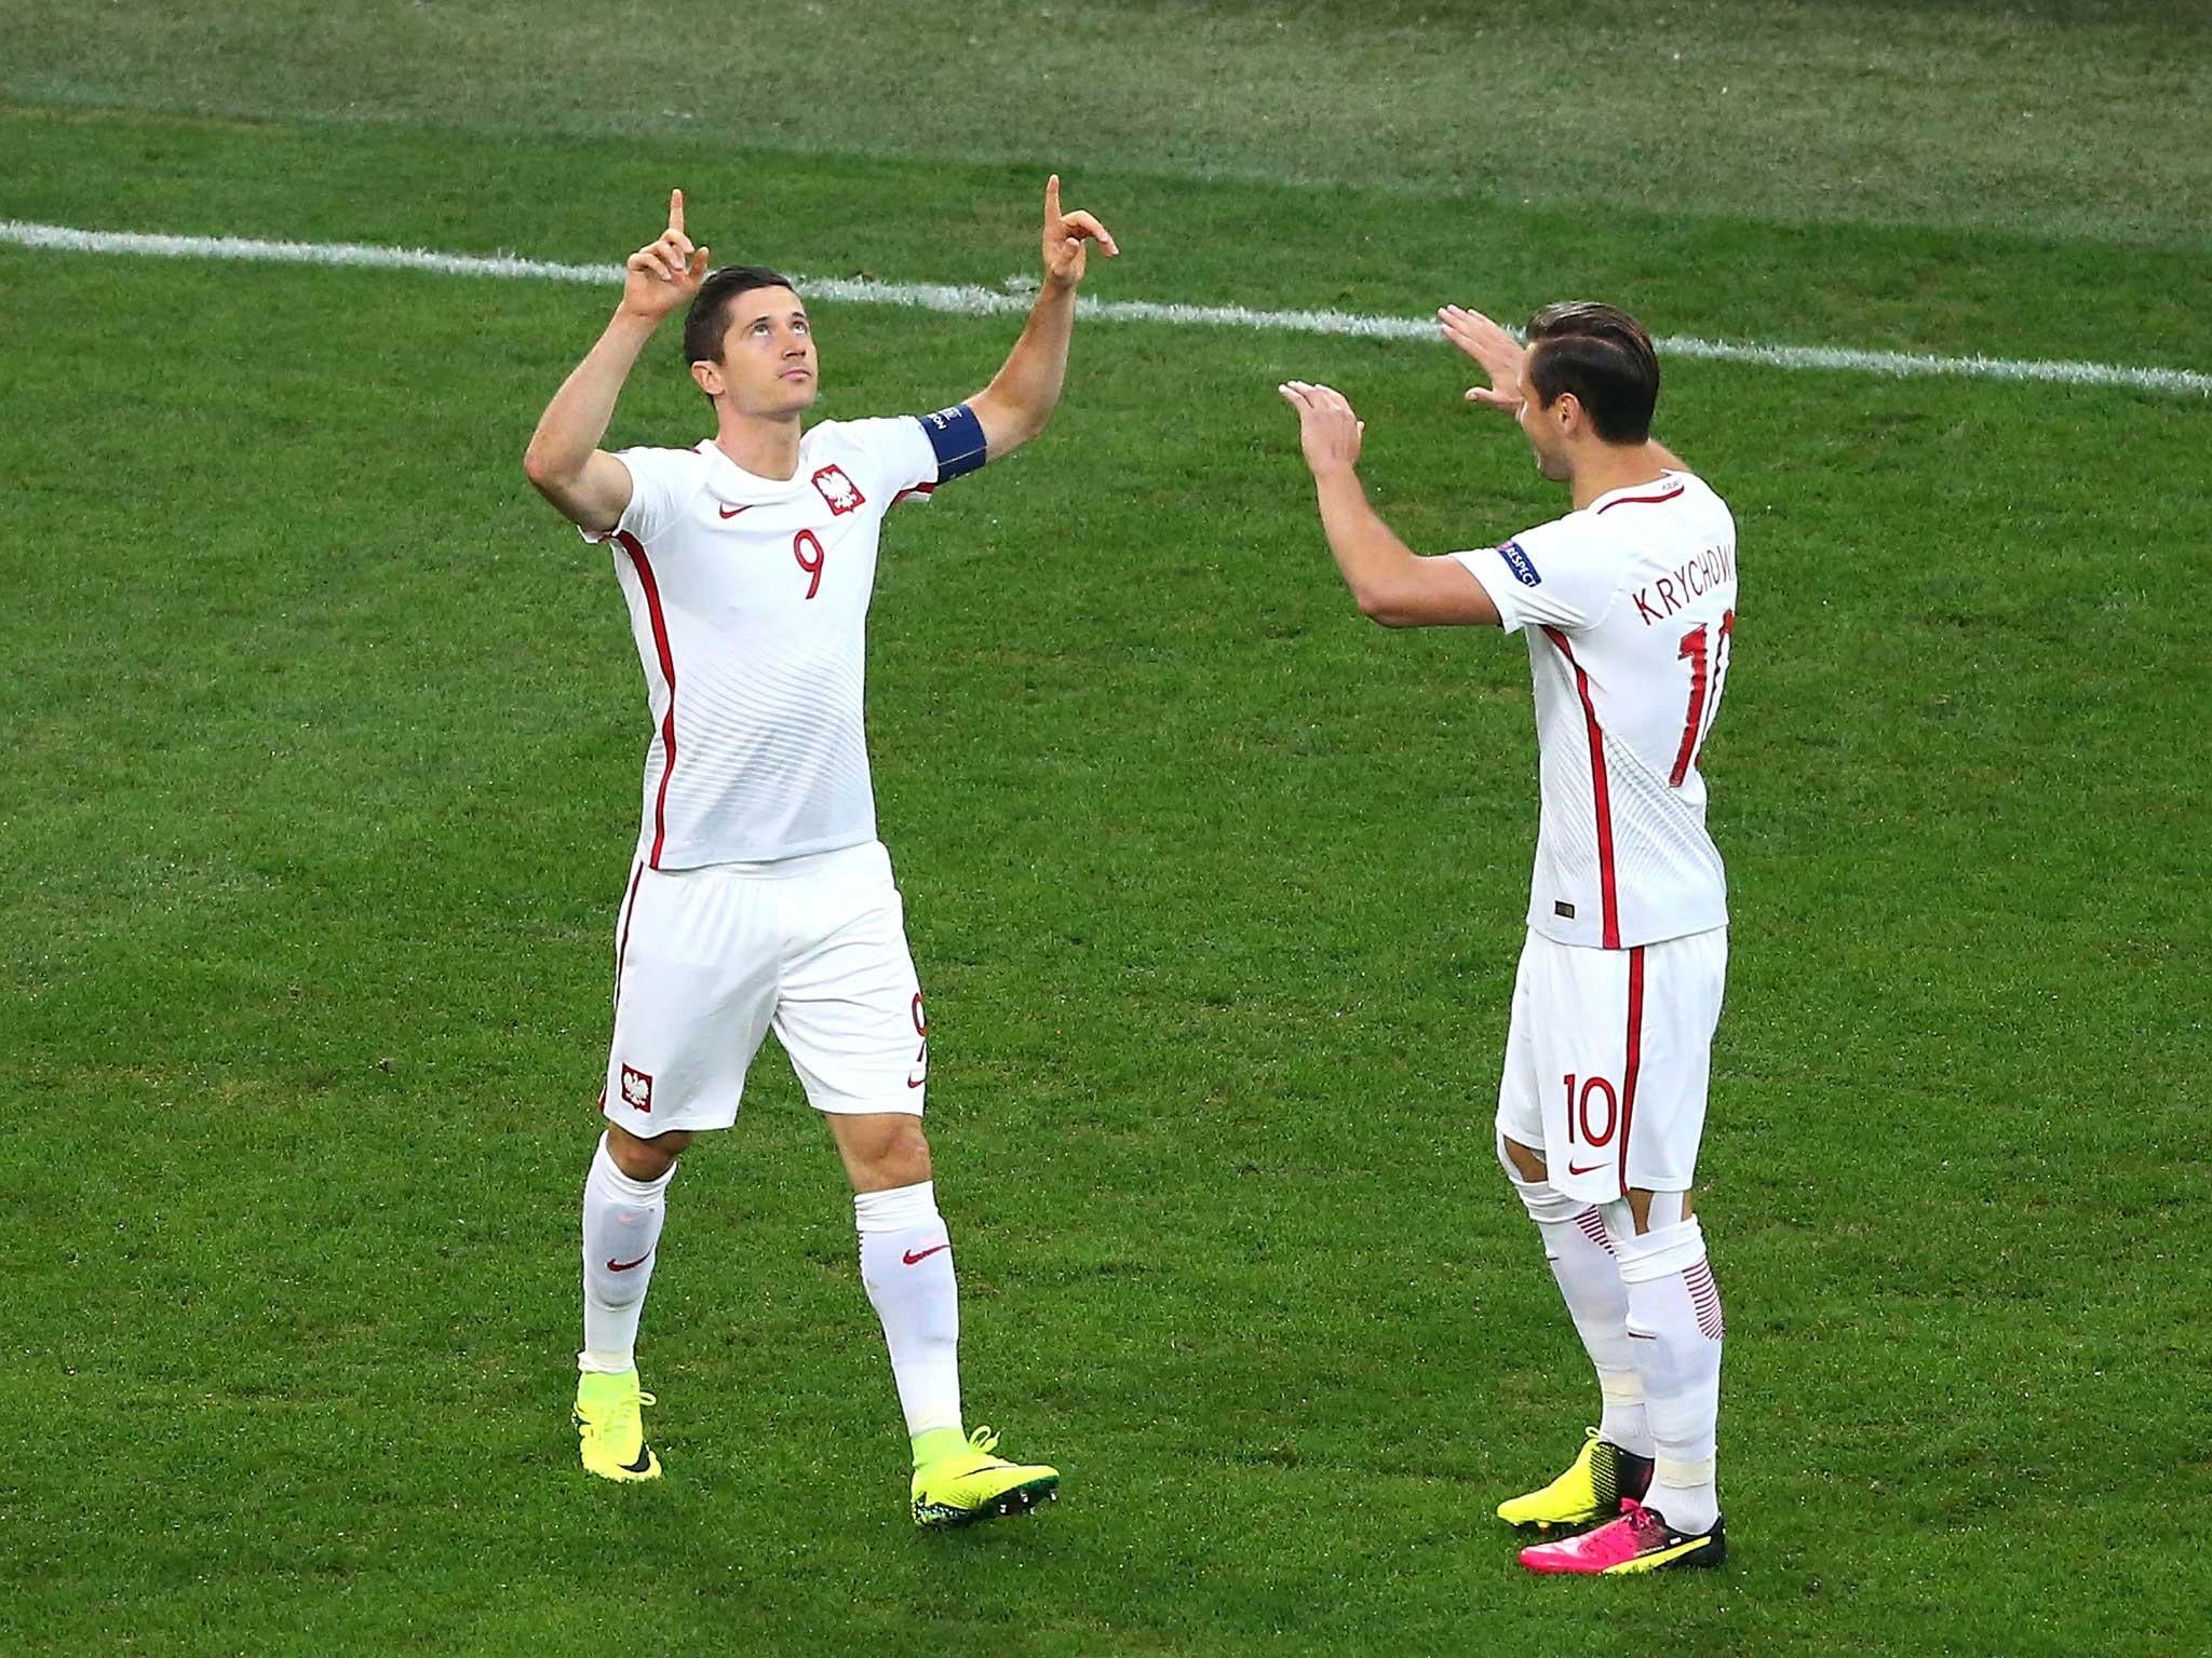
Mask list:
MULTIPOLYGON (((953 413, 973 424, 929 420, 953 413)), ((940 475, 922 420, 825 420, 790 480, 712 442, 619 460, 630 504, 584 539, 615 544, 653 707, 637 856, 695 869, 874 840, 867 601, 885 511, 940 475)))

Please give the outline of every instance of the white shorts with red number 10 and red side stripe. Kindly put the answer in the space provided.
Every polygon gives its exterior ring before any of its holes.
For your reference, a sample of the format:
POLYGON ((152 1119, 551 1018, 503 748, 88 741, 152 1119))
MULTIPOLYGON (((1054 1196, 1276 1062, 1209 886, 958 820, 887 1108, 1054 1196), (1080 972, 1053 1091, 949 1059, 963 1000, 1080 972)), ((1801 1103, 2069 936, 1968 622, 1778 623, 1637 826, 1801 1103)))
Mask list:
POLYGON ((1584 1203, 1688 1192, 1705 1134, 1728 928, 1593 951, 1531 931, 1513 977, 1498 1132, 1584 1203))

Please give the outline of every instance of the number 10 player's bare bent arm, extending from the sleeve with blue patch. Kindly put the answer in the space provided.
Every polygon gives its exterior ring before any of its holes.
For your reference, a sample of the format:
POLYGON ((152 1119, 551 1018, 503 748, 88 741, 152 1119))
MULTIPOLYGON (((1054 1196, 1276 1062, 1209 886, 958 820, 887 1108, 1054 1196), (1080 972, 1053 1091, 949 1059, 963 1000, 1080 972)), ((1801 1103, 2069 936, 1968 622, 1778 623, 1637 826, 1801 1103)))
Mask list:
POLYGON ((1287 380, 1279 391, 1298 411, 1321 528, 1360 615, 1385 628, 1495 628, 1498 606, 1464 564, 1418 557, 1367 504, 1358 475, 1367 422, 1343 393, 1305 380, 1287 380))

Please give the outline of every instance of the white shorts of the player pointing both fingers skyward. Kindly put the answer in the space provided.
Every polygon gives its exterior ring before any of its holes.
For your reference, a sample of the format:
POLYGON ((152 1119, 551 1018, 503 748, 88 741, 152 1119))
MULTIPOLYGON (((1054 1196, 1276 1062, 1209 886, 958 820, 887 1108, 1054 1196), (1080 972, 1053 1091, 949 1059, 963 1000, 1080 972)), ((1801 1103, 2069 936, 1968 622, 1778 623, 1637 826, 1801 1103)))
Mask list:
POLYGON ((880 842, 633 871, 615 922, 606 1119, 641 1138, 730 1127, 770 1030, 814 1110, 922 1114, 922 988, 880 842))

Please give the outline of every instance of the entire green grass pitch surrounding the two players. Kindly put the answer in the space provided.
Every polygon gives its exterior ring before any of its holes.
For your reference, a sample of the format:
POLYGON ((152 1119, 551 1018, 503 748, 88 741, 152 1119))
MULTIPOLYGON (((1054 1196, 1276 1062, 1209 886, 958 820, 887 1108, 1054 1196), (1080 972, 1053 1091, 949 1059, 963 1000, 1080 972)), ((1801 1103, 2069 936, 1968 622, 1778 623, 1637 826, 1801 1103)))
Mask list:
MULTIPOLYGON (((1060 168, 1106 298, 2212 369, 2197 4, 1048 13, 0 0, 0 219, 613 261, 681 183, 726 259, 995 285, 1060 168)), ((1491 1505, 1595 1388, 1489 1150, 1528 670, 1358 619, 1272 391, 1358 402, 1425 550, 1562 511, 1444 347, 1086 323, 1053 429, 885 537, 969 1417, 1064 1501, 909 1528, 774 1052, 672 1192, 670 1477, 586 1486, 648 732, 520 453, 611 301, 0 245, 15 1649, 2212 1647, 2212 400, 1668 363, 1741 526, 1734 1552, 1535 1583, 1491 1505)), ((1015 334, 816 318, 825 416, 1015 334)), ((675 358, 613 442, 703 433, 675 358)))

